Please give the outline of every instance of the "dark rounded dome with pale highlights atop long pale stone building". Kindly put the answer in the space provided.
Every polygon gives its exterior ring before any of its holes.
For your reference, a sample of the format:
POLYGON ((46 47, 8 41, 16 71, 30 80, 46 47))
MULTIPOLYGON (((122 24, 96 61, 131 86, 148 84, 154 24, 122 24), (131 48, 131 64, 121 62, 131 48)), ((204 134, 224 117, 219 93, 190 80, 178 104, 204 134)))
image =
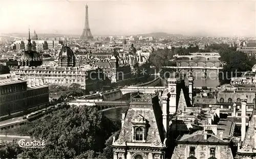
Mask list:
POLYGON ((75 67, 75 54, 67 44, 59 52, 58 66, 75 67))

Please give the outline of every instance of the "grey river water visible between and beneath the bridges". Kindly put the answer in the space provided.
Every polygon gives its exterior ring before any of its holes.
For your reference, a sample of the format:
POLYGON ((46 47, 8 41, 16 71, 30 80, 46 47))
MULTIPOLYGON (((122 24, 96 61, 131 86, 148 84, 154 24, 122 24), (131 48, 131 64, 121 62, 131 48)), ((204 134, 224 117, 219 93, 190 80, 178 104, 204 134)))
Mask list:
MULTIPOLYGON (((177 63, 177 66, 188 66, 188 60, 184 60, 183 62, 177 63)), ((197 60, 193 60, 193 62, 189 62, 190 66, 201 66, 204 67, 205 66, 205 59, 200 59, 198 58, 197 60)), ((218 59, 212 59, 212 60, 208 60, 206 63, 206 66, 209 67, 219 67, 221 64, 219 62, 218 59)), ((165 70, 166 71, 166 70, 165 70)), ((168 70, 169 71, 169 70, 168 70)), ((170 72, 172 72, 173 70, 170 70, 170 72)), ((185 70, 181 70, 181 72, 187 73, 185 70)), ((218 80, 218 75, 217 75, 217 71, 216 70, 207 70, 207 77, 204 78, 203 77, 203 73, 202 70, 194 70, 193 71, 193 76, 195 78, 194 80, 194 87, 208 87, 208 88, 214 88, 217 87, 219 85, 219 80, 218 80)), ((188 81, 187 81, 188 76, 185 76, 185 83, 188 85, 188 81)), ((153 80, 154 77, 151 77, 148 81, 153 80)), ((162 80, 161 84, 159 86, 164 86, 165 85, 165 80, 162 80)), ((125 100, 125 99, 122 99, 125 100)), ((112 120, 117 120, 120 121, 121 119, 121 112, 123 110, 127 110, 127 108, 117 108, 117 109, 111 109, 108 111, 103 112, 103 114, 112 119, 112 120)))

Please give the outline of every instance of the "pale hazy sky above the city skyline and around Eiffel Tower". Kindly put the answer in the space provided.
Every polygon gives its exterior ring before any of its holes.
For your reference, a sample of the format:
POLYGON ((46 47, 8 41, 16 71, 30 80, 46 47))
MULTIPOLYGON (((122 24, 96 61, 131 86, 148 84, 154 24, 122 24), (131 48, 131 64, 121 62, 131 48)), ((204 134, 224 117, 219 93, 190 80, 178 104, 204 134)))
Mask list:
POLYGON ((82 33, 85 8, 93 35, 151 32, 256 36, 254 1, 0 0, 0 33, 82 33))

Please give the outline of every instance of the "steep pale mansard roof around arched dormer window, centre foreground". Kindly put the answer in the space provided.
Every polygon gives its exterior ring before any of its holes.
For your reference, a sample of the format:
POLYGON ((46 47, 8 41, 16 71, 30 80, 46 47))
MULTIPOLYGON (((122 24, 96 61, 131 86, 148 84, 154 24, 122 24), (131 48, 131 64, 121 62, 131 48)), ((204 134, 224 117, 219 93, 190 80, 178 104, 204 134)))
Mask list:
POLYGON ((130 104, 133 104, 133 107, 131 108, 130 106, 130 109, 127 111, 126 117, 124 119, 124 124, 122 126, 118 140, 121 140, 127 143, 132 143, 133 141, 132 127, 135 126, 136 123, 139 123, 139 121, 141 121, 141 123, 146 123, 149 125, 147 126, 148 131, 147 131, 145 143, 154 144, 154 143, 160 142, 159 144, 162 144, 164 141, 164 134, 163 134, 163 124, 162 124, 162 118, 161 118, 162 111, 161 111, 160 105, 157 104, 158 96, 154 96, 153 98, 148 96, 148 98, 141 98, 141 101, 137 100, 140 97, 144 97, 144 96, 145 95, 138 95, 136 97, 136 101, 132 100, 132 102, 130 103, 130 104), (149 103, 151 103, 151 105, 149 103), (138 107, 136 107, 136 105, 138 105, 138 107), (143 105, 145 107, 143 107, 143 105), (139 120, 139 119, 142 119, 142 120, 139 120))

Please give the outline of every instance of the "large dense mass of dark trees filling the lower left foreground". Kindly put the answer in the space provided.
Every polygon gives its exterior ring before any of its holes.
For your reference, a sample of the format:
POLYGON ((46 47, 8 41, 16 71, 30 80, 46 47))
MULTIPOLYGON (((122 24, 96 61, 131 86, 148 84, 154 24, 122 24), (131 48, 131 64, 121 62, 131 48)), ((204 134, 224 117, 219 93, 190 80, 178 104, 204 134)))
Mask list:
POLYGON ((32 122, 29 136, 45 140, 44 148, 20 148, 17 143, 0 145, 0 158, 112 158, 113 136, 120 123, 94 107, 70 107, 32 122))

